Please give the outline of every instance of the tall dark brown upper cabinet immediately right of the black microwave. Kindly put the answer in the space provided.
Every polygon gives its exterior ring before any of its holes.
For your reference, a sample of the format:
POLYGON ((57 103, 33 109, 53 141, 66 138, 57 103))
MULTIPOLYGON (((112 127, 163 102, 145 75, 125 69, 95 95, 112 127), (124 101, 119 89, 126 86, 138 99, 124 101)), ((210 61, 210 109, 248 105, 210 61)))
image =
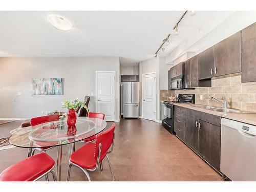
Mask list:
POLYGON ((185 88, 198 87, 198 55, 185 61, 184 80, 185 88))

